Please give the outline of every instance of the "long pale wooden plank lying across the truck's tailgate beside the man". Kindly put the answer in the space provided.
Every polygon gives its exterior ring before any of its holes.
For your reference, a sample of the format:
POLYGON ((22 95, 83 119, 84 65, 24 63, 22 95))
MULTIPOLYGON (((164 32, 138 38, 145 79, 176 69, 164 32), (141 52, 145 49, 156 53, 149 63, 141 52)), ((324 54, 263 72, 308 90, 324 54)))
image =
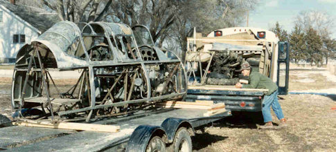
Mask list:
POLYGON ((216 91, 265 91, 268 89, 262 88, 235 88, 234 86, 215 86, 215 85, 203 85, 203 86, 188 86, 188 89, 200 89, 200 90, 216 90, 216 91))

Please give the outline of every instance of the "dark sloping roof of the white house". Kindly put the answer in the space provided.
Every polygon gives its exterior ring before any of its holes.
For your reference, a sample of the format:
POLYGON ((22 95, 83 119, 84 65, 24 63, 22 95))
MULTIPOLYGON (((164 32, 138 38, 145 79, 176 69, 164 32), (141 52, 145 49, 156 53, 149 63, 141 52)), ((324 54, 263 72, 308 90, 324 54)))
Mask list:
POLYGON ((8 1, 0 0, 0 5, 4 6, 15 15, 29 23, 34 28, 37 28, 40 32, 45 32, 48 28, 51 28, 53 24, 61 21, 57 13, 47 12, 41 8, 35 8, 32 6, 13 5, 8 1))

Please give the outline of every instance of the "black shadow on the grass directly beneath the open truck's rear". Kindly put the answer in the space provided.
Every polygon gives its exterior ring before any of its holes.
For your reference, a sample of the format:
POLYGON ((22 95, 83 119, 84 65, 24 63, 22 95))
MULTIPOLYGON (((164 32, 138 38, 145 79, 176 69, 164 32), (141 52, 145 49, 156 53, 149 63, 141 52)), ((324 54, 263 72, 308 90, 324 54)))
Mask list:
POLYGON ((261 112, 233 111, 231 117, 218 120, 213 124, 213 126, 239 129, 257 129, 256 124, 264 124, 263 114, 261 112))

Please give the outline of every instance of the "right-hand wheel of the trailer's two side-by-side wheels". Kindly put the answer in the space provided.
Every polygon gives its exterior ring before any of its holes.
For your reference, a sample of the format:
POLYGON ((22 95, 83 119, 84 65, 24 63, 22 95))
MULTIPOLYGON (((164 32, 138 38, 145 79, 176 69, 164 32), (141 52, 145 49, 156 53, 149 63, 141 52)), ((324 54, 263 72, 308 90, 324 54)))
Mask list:
POLYGON ((191 152, 193 150, 191 136, 185 127, 181 127, 177 130, 174 137, 173 148, 175 152, 191 152))

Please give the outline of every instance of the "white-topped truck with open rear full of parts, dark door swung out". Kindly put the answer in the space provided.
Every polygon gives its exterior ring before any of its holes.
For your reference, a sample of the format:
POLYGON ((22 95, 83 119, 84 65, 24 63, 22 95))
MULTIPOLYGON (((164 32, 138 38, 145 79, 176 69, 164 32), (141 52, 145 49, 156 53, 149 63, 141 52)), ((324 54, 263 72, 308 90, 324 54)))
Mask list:
MULTIPOLYGON (((186 100, 224 102, 233 112, 261 111, 267 89, 235 88, 237 82, 248 83, 240 73, 247 61, 252 71, 269 77, 278 85, 278 94, 288 93, 289 44, 262 28, 233 27, 214 30, 202 36, 194 29, 187 38, 186 100)), ((240 112, 238 112, 240 113, 240 112)))

